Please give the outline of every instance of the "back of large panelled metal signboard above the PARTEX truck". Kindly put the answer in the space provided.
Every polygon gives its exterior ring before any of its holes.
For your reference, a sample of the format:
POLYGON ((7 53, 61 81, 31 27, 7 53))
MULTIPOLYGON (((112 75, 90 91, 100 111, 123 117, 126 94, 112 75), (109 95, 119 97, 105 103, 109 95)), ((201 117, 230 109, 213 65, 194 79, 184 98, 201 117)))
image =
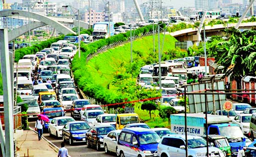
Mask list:
MULTIPOLYGON (((197 83, 197 84, 189 84, 187 85, 187 92, 194 92, 194 91, 201 91, 202 94, 189 94, 189 112, 190 113, 200 113, 205 112, 205 89, 209 89, 206 93, 212 93, 211 89, 214 87, 215 90, 225 89, 224 81, 215 81, 214 84, 212 82, 205 82, 205 83, 197 83)), ((216 92, 217 93, 217 92, 216 92)), ((214 101, 215 99, 215 106, 216 110, 220 110, 223 107, 224 102, 226 102, 226 94, 207 94, 207 111, 213 111, 214 101)))

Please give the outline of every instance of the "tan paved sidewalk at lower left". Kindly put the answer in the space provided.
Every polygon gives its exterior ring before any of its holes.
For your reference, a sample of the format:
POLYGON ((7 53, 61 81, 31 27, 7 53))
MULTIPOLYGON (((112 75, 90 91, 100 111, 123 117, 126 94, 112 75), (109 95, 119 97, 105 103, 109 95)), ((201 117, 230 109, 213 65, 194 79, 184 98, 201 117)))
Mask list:
POLYGON ((24 130, 23 135, 17 138, 17 157, 57 157, 58 149, 46 141, 44 137, 38 141, 33 130, 24 130))

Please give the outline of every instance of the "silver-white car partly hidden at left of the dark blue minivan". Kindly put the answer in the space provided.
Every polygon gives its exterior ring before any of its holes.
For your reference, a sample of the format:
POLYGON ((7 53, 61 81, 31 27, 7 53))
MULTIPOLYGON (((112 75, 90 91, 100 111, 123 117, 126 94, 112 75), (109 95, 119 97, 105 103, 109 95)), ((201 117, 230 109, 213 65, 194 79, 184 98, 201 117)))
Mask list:
POLYGON ((107 136, 103 138, 103 146, 105 153, 114 152, 116 154, 117 151, 117 141, 120 135, 121 130, 113 130, 110 131, 107 136))

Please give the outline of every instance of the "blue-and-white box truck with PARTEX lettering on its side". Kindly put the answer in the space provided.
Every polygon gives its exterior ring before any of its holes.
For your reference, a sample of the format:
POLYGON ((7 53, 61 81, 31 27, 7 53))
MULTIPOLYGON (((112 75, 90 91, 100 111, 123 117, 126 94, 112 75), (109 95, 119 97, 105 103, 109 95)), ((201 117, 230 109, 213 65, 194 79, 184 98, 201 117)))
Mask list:
POLYGON ((236 156, 238 151, 246 147, 246 139, 241 128, 237 124, 230 124, 232 120, 227 116, 206 115, 200 113, 187 114, 187 129, 185 128, 185 114, 171 115, 171 132, 175 134, 205 136, 221 135, 228 138, 231 146, 232 156, 236 156))

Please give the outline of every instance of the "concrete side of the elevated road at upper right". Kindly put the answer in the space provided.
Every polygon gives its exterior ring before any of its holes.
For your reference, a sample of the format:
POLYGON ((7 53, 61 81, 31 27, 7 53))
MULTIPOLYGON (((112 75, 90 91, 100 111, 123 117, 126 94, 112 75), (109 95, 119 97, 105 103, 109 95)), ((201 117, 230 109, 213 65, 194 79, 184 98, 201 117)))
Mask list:
MULTIPOLYGON (((237 23, 227 23, 227 24, 217 24, 213 26, 205 26, 206 36, 213 35, 224 35, 223 30, 229 27, 235 27, 237 23)), ((252 29, 256 26, 256 22, 244 22, 241 23, 239 29, 252 29)), ((199 37, 197 35, 198 28, 187 28, 179 31, 175 31, 172 33, 168 33, 175 37, 179 41, 199 41, 199 37)), ((203 37, 203 31, 201 32, 201 36, 203 37)))

